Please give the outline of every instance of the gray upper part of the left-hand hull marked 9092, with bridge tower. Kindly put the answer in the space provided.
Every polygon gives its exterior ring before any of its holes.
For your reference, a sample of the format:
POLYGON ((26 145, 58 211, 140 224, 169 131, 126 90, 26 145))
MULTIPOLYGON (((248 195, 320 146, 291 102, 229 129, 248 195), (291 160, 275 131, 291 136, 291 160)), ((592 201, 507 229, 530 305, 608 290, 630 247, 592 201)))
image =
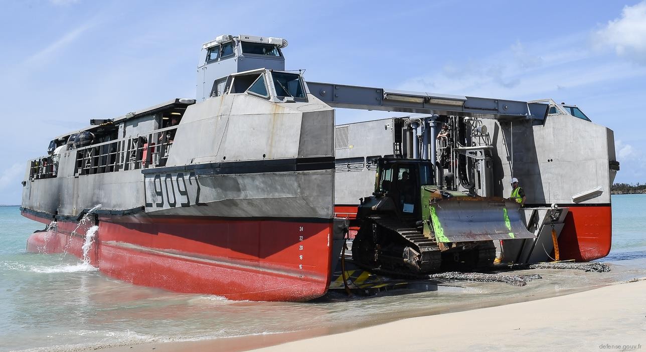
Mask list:
POLYGON ((213 90, 198 82, 198 103, 174 99, 59 136, 50 156, 30 161, 23 208, 72 218, 101 203, 113 214, 331 219, 334 110, 307 94, 300 74, 278 71, 286 44, 205 43, 198 81, 213 90), (89 145, 66 145, 87 132, 89 145))

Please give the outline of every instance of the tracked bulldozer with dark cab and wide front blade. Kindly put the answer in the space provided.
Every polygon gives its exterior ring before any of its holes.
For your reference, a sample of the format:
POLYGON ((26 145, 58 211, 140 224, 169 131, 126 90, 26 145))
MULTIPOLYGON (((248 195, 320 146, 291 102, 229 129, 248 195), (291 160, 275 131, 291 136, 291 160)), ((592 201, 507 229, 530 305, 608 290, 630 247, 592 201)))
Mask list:
POLYGON ((496 240, 534 238, 520 204, 436 186, 428 160, 379 158, 375 191, 361 198, 353 261, 370 271, 417 276, 481 271, 496 240))

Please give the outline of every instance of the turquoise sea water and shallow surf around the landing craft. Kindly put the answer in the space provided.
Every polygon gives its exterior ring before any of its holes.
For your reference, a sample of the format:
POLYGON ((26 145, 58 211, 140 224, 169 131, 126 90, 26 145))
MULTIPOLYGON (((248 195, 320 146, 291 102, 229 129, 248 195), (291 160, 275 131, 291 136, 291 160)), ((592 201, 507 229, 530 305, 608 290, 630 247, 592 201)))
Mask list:
MULTIPOLYGON (((536 285, 554 291, 572 282, 609 282, 608 275, 616 272, 643 273, 646 194, 612 196, 612 203, 612 251, 602 261, 613 264, 613 272, 541 273, 549 285, 532 282, 532 294, 541 289, 536 285)), ((20 216, 18 207, 0 207, 0 351, 86 351, 140 342, 281 333, 339 322, 360 324, 393 312, 415 315, 421 307, 464 300, 464 295, 455 293, 413 293, 296 304, 170 293, 113 280, 74 256, 26 253, 28 236, 44 227, 20 216)), ((526 292, 499 283, 465 287, 478 293, 478 300, 526 292)))

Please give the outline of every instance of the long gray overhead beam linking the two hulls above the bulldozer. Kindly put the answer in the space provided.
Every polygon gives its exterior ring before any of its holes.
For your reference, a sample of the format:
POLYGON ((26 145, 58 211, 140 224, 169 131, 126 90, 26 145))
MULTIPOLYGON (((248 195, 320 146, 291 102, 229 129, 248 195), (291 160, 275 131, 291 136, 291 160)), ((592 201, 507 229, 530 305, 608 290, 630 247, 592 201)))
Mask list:
MULTIPOLYGON (((362 110, 474 116, 492 119, 542 118, 545 108, 532 115, 526 101, 453 96, 427 92, 407 92, 384 88, 307 82, 310 94, 331 107, 362 110)), ((534 110, 534 109, 531 109, 534 110)))

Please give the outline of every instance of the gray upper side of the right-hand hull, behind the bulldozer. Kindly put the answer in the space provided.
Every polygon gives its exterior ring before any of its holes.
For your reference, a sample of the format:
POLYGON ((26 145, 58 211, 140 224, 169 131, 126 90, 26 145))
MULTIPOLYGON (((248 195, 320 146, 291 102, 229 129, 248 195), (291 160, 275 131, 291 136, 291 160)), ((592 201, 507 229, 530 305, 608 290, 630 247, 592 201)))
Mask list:
MULTIPOLYGON (((474 134, 474 145, 453 146, 450 152, 474 160, 470 172, 475 183, 464 187, 454 168, 441 167, 445 177, 439 178, 439 184, 446 183, 450 175, 450 188, 508 197, 510 180, 515 177, 522 182, 528 204, 610 203, 610 185, 619 169, 612 130, 573 116, 567 107, 550 99, 540 105, 536 115, 472 118, 473 124, 485 126, 487 132, 479 139, 474 134)), ((578 114, 585 116, 580 110, 578 114)), ((435 114, 337 125, 335 203, 356 205, 360 197, 370 194, 375 176, 371 161, 379 156, 437 160, 435 154, 447 146, 445 140, 435 138, 441 125, 459 118, 435 114), (412 123, 417 123, 416 137, 412 123), (420 150, 417 156, 413 156, 413 140, 420 150)))

